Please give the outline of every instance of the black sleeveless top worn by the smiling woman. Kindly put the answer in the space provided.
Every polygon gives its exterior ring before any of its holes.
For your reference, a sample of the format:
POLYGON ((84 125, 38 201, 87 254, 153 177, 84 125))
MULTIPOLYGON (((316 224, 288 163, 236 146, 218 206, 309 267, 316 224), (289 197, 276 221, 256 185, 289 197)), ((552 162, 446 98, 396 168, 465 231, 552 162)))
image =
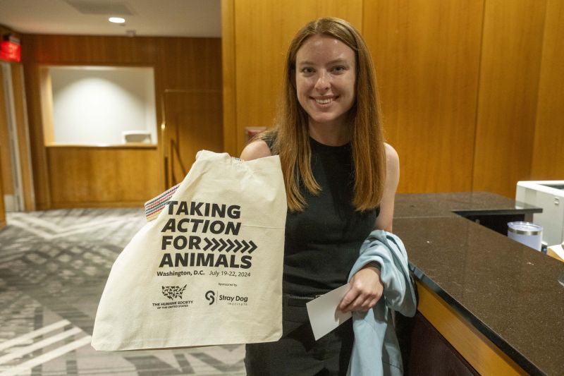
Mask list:
POLYGON ((350 144, 333 147, 312 138, 309 142, 321 192, 315 196, 302 188, 307 207, 303 212, 288 210, 286 216, 283 291, 295 296, 316 296, 343 286, 379 213, 379 208, 357 212, 352 204, 350 144))

